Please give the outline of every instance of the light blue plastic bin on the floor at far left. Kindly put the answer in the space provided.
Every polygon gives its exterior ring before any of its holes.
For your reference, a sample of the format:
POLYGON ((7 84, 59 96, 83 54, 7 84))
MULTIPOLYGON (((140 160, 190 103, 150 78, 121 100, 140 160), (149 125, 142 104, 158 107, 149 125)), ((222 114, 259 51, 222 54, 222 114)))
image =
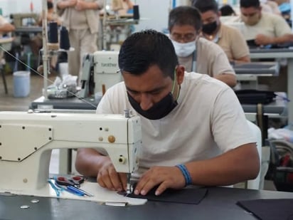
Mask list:
POLYGON ((31 73, 29 71, 14 72, 14 97, 26 97, 31 90, 31 73))

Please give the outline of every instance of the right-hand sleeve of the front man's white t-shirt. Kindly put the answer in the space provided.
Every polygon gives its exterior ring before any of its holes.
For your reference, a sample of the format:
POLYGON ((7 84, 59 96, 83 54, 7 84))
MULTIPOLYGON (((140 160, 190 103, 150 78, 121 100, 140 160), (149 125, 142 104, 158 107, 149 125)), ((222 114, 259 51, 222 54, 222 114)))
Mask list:
POLYGON ((215 100, 211 127, 214 140, 223 152, 256 142, 247 125, 243 108, 230 88, 219 93, 215 100))

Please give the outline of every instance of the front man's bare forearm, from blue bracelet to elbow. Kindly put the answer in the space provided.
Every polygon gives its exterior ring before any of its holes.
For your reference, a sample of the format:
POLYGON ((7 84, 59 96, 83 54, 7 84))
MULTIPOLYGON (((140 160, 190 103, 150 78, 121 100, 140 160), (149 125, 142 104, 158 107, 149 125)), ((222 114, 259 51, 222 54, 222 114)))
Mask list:
POLYGON ((186 164, 193 184, 225 186, 255 179, 260 159, 254 144, 243 145, 212 159, 186 164))

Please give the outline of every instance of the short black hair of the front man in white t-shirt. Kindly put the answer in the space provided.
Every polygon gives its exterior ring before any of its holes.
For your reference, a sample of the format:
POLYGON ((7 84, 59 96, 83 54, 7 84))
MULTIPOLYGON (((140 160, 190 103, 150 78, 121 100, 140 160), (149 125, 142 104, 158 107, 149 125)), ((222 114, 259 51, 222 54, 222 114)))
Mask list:
POLYGON ((179 65, 173 43, 164 33, 144 30, 129 36, 119 51, 119 69, 133 75, 142 75, 151 66, 158 66, 165 76, 174 79, 179 65))

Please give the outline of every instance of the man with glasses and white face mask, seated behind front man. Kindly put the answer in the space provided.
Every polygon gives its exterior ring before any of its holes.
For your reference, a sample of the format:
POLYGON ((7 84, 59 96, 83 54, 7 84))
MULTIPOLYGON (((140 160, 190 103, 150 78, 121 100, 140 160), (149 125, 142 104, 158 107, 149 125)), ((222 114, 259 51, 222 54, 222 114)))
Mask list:
POLYGON ((179 63, 186 71, 205 73, 234 87, 235 72, 225 52, 217 44, 200 38, 201 14, 191 6, 170 11, 169 32, 179 63))

